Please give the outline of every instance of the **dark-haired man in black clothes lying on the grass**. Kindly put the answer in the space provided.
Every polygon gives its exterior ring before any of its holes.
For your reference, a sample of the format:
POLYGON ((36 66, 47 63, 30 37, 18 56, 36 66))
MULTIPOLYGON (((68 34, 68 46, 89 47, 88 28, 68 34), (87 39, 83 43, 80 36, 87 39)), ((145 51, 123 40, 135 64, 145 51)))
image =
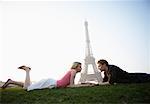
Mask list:
POLYGON ((104 71, 103 82, 106 84, 150 82, 150 74, 128 73, 115 65, 109 65, 108 62, 103 59, 99 60, 97 64, 98 68, 104 71))

